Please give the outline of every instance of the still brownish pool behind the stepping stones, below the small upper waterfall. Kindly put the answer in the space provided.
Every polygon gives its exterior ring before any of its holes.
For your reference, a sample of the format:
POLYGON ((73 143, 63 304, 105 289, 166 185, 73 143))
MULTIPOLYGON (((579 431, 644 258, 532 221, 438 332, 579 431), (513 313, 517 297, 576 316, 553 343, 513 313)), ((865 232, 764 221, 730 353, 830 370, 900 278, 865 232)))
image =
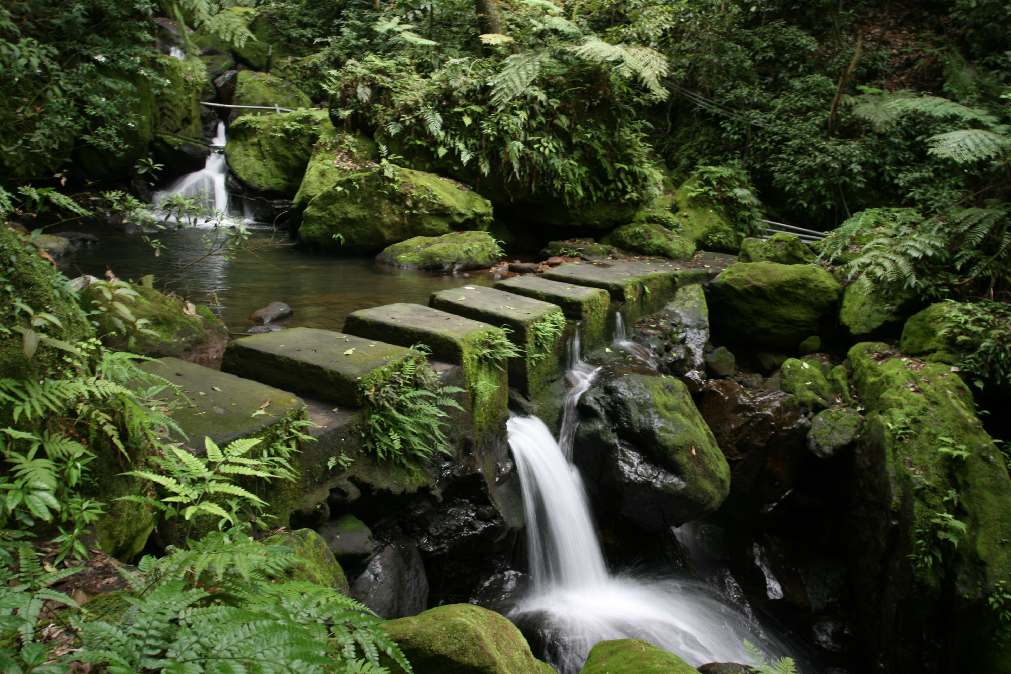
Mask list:
MULTIPOLYGON (((428 304, 429 295, 464 284, 490 286, 488 272, 436 274, 377 265, 372 258, 353 258, 309 252, 284 231, 252 225, 247 248, 235 259, 209 258, 183 269, 160 283, 194 304, 209 304, 228 329, 241 332, 249 315, 268 302, 291 306, 294 315, 284 324, 340 330, 352 311, 391 302, 428 304), (216 297, 216 303, 215 303, 216 297)), ((79 248, 57 261, 68 278, 91 274, 103 278, 106 268, 123 280, 146 274, 156 279, 190 264, 206 253, 203 237, 209 230, 181 229, 161 236, 165 250, 155 257, 140 234, 127 234, 102 225, 78 225, 75 231, 95 234, 100 243, 79 248)), ((59 235, 59 231, 50 233, 59 235)))

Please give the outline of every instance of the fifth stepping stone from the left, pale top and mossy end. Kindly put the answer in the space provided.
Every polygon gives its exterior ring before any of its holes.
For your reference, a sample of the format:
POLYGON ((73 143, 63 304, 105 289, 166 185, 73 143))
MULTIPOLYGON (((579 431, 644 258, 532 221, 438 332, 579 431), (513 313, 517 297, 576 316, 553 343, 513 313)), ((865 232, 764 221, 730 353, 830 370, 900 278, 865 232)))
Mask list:
POLYGON ((582 323, 583 352, 592 351, 606 342, 611 295, 603 288, 560 283, 536 276, 516 276, 498 281, 495 288, 562 307, 566 318, 582 323))

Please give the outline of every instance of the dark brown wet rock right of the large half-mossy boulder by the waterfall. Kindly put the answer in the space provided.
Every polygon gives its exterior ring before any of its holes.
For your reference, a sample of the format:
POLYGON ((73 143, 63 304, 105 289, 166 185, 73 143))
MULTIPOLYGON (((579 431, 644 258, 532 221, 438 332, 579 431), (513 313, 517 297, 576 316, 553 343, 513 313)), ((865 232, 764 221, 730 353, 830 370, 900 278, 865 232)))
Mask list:
POLYGON ((793 488, 807 452, 810 423, 797 401, 719 379, 706 384, 699 411, 730 464, 734 511, 770 511, 793 488))

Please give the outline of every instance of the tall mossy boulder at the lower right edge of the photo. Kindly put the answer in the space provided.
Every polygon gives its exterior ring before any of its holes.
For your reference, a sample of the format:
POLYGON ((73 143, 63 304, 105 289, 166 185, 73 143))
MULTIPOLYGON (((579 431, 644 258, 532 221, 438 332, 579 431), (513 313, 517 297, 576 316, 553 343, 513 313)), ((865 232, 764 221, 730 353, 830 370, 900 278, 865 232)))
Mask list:
POLYGON ((1003 454, 949 366, 883 343, 857 344, 848 356, 866 409, 846 513, 850 578, 862 588, 853 595, 858 636, 897 671, 936 643, 947 645, 955 671, 1011 671, 988 603, 1011 582, 1003 454))

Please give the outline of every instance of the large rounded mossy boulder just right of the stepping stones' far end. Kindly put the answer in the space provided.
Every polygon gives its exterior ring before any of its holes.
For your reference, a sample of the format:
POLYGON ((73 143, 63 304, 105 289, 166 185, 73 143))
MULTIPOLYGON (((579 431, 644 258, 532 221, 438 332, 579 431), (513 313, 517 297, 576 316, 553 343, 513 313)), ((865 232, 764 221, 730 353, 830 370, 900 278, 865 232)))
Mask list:
POLYGON ((840 295, 817 265, 735 263, 710 286, 710 316, 727 340, 795 349, 826 328, 840 295))

